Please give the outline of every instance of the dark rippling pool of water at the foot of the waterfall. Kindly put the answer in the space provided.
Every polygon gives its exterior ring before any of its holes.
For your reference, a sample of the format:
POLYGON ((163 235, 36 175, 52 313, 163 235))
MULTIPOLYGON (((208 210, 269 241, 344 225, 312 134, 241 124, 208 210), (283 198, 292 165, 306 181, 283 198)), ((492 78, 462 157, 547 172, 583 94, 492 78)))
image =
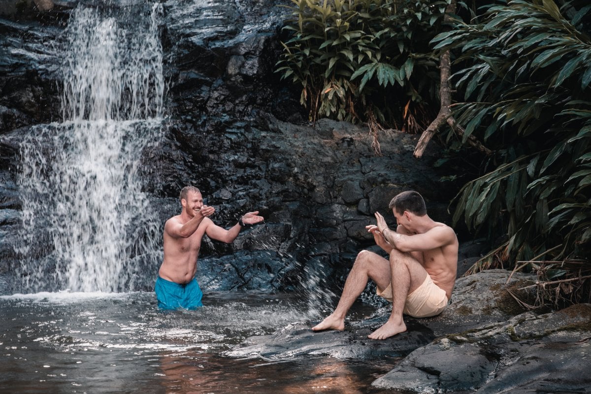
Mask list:
MULTIPOLYGON (((236 359, 245 338, 317 320, 294 294, 209 292, 196 311, 151 292, 0 297, 2 393, 382 393, 397 359, 236 359)), ((355 305, 352 318, 374 311, 355 305)), ((392 391, 388 391, 392 393, 392 391)))

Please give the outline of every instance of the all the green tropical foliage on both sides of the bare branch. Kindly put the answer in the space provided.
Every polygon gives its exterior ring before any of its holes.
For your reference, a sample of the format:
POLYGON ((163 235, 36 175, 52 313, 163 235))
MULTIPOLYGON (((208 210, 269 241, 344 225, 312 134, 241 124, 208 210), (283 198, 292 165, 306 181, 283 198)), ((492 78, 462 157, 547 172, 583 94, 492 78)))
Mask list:
POLYGON ((278 71, 313 119, 408 128, 409 108, 432 117, 439 58, 451 55, 463 133, 446 141, 476 137, 493 151, 454 201, 454 221, 496 242, 473 271, 527 269, 541 304, 589 301, 591 4, 458 1, 446 17, 455 0, 292 1, 278 71))

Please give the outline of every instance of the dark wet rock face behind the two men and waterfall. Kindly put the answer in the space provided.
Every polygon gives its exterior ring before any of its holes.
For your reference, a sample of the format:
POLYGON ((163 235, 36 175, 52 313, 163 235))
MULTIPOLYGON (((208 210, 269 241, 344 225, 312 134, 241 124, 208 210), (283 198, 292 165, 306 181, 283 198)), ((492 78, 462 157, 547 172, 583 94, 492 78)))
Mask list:
MULTIPOLYGON (((18 263, 22 136, 61 118, 57 48, 68 7, 76 3, 55 3, 43 15, 33 9, 0 19, 6 33, 0 47, 7 48, 0 60, 0 274, 7 278, 18 263)), ((281 3, 163 4, 168 118, 161 139, 142 155, 150 209, 163 225, 180 210, 180 188, 194 184, 216 207, 221 226, 246 211, 265 217, 233 245, 204 245, 198 275, 205 289, 289 289, 306 266, 340 278, 356 252, 371 245, 365 226, 373 213, 394 224, 387 204, 402 190, 418 190, 431 216, 449 223, 446 208, 456 187, 433 169, 437 149, 415 160, 415 136, 388 131, 378 156, 363 126, 304 120, 299 93, 273 72, 286 12, 281 3)), ((37 252, 51 248, 40 243, 37 252)), ((145 281, 135 289, 151 289, 157 268, 138 272, 145 281)))

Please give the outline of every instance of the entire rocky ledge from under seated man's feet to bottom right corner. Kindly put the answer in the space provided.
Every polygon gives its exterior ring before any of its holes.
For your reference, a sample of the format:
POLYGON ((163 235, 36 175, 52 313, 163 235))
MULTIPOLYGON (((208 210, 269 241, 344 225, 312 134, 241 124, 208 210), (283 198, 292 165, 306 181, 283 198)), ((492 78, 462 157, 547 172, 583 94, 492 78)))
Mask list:
POLYGON ((535 276, 490 270, 458 279, 441 315, 405 317, 408 331, 384 341, 368 334, 389 315, 381 308, 344 331, 314 333, 305 322, 248 338, 232 357, 330 356, 397 360, 372 384, 402 392, 591 392, 591 305, 554 312, 524 311, 535 276), (394 358, 397 357, 397 358, 394 358), (400 357, 404 359, 400 360, 400 357))

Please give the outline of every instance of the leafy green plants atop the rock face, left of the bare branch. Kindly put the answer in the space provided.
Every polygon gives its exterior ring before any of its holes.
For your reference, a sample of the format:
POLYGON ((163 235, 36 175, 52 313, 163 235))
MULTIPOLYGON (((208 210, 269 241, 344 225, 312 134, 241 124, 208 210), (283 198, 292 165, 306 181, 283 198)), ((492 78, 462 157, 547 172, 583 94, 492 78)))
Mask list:
POLYGON ((437 108, 437 58, 446 1, 292 0, 278 62, 318 116, 418 131, 437 108))

